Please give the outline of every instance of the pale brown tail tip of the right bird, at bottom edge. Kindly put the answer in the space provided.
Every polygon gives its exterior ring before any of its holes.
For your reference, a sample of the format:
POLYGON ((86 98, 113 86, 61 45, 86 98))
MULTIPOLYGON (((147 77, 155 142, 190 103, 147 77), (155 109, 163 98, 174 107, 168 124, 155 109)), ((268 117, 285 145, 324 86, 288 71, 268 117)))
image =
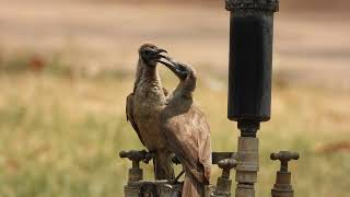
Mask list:
POLYGON ((186 175, 182 197, 205 197, 205 183, 186 175))

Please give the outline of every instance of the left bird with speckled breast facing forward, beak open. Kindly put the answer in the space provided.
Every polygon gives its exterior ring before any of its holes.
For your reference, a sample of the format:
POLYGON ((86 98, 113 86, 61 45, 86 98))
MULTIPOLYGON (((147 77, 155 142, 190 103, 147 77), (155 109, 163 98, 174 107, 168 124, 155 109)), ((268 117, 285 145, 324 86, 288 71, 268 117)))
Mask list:
POLYGON ((142 144, 154 154, 155 179, 173 179, 174 169, 165 138, 160 131, 159 114, 164 108, 167 90, 162 86, 156 68, 166 50, 154 44, 143 44, 139 50, 133 91, 127 96, 127 120, 142 144))

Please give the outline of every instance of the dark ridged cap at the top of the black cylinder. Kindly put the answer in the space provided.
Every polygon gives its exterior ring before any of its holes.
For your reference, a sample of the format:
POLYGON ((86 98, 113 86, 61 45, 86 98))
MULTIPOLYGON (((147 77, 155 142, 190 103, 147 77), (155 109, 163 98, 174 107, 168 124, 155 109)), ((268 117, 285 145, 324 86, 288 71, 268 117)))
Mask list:
POLYGON ((279 0, 226 0, 228 11, 237 10, 265 10, 278 12, 279 0))

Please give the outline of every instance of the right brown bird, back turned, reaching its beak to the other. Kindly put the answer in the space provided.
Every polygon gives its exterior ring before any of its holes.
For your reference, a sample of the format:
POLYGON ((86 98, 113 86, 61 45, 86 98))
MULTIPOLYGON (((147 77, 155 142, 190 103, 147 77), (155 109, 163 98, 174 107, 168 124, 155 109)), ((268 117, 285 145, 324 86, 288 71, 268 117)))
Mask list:
POLYGON ((196 71, 170 57, 164 62, 179 79, 160 113, 160 130, 185 170, 183 197, 203 197, 210 181, 211 142, 205 114, 194 102, 196 71))

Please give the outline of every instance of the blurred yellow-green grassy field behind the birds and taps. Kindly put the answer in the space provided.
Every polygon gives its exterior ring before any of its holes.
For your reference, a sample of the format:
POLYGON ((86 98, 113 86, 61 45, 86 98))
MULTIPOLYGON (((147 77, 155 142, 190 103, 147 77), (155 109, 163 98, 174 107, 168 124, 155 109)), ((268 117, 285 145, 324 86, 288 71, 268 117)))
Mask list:
MULTIPOLYGON (((125 117, 133 74, 90 77, 55 65, 35 72, 16 65, 0 69, 0 196, 122 196, 130 163, 117 152, 142 149, 125 117)), ((168 71, 161 73, 166 86, 176 85, 168 71)), ((238 135, 226 119, 224 79, 199 70, 196 99, 208 115, 214 151, 234 151, 238 135)), ((272 119, 258 132, 257 196, 270 196, 279 163, 269 153, 279 150, 301 153, 291 163, 295 196, 349 196, 350 93, 280 81, 272 119)), ((150 178, 151 167, 143 167, 150 178)), ((214 167, 212 183, 219 173, 214 167)))

